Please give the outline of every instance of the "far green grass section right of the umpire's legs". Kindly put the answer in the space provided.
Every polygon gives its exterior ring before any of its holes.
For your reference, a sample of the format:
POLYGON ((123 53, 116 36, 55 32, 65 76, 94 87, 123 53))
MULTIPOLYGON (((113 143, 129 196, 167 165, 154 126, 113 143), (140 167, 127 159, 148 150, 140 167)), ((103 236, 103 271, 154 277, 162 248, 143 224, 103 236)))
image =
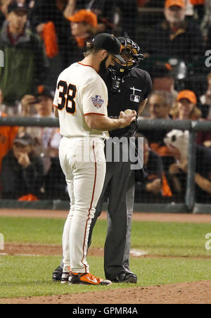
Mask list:
POLYGON ((211 257, 205 234, 211 224, 139 222, 132 227, 132 247, 164 256, 211 257))

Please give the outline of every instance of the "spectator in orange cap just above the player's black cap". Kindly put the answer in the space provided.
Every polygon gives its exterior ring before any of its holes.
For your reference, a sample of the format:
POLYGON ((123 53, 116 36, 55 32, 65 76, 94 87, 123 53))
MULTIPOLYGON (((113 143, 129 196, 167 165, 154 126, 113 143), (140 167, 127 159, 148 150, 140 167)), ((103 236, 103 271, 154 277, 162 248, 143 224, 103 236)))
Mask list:
POLYGON ((95 13, 82 9, 70 15, 68 20, 70 20, 72 37, 65 50, 67 66, 83 58, 87 42, 91 41, 96 33, 97 17, 95 13))

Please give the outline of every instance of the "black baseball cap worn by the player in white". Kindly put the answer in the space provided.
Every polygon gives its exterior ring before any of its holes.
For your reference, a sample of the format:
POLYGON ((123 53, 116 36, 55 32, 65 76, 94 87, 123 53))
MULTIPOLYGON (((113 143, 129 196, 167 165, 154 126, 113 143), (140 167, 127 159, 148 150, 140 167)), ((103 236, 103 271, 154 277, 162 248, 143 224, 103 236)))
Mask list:
POLYGON ((97 49, 104 49, 108 51, 110 54, 115 56, 121 63, 126 63, 122 56, 120 56, 121 52, 121 43, 120 41, 113 35, 109 33, 100 33, 97 34, 92 40, 92 44, 97 49))

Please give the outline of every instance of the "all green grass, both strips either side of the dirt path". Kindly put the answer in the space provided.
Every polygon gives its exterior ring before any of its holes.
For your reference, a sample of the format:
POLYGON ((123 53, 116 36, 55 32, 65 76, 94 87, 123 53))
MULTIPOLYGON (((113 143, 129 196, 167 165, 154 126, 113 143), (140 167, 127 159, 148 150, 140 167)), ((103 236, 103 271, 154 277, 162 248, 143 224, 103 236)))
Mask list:
MULTIPOLYGON (((25 217, 0 217, 0 233, 5 243, 61 244, 65 220, 25 217)), ((98 220, 92 247, 101 247, 106 237, 106 224, 98 220)), ((136 286, 175 284, 182 281, 211 279, 211 250, 205 250, 205 234, 211 224, 133 222, 132 248, 161 257, 131 257, 130 268, 139 277, 136 286), (162 256, 173 256, 162 257, 162 256), (181 258, 186 257, 209 257, 181 258)), ((4 253, 4 251, 1 251, 4 253)), ((60 256, 0 256, 0 298, 32 295, 56 295, 96 291, 95 286, 61 286, 51 281, 60 256)), ((89 257, 91 272, 103 274, 103 258, 89 257)), ((129 285, 130 287, 132 285, 129 285)), ((98 290, 125 288, 127 284, 98 286, 98 290)), ((0 300, 1 303, 1 300, 0 300)))

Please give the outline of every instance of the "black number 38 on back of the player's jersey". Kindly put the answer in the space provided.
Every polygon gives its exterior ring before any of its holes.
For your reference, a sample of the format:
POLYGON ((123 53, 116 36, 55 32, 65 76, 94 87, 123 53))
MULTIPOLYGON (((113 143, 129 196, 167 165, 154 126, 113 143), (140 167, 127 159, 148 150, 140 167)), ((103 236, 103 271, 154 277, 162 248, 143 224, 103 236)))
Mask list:
POLYGON ((75 96, 77 88, 75 85, 67 84, 67 82, 58 82, 57 89, 59 91, 58 109, 63 110, 66 108, 67 113, 75 113, 75 96))

